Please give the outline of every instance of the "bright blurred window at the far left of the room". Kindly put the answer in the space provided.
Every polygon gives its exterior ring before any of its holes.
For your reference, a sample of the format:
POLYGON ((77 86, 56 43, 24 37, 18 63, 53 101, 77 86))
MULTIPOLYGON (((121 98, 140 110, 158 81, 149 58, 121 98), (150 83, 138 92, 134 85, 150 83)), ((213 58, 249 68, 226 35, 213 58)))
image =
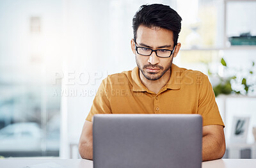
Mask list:
POLYGON ((0 156, 59 156, 61 1, 20 3, 0 1, 0 156))

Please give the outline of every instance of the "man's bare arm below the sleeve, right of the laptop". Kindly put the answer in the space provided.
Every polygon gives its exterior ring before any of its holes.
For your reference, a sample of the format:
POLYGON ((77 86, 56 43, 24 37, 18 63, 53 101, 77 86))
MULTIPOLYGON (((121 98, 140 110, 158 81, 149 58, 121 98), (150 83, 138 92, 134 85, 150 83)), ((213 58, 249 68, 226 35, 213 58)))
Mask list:
POLYGON ((203 126, 203 142, 202 142, 203 161, 222 158, 225 154, 226 144, 221 125, 203 126))

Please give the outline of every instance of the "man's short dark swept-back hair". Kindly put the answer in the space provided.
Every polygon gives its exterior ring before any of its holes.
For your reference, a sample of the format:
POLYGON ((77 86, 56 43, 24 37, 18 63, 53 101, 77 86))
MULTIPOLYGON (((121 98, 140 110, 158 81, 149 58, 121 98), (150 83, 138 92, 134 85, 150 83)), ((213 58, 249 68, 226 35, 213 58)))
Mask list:
POLYGON ((163 4, 145 4, 140 6, 132 19, 134 40, 137 37, 138 27, 161 27, 173 32, 173 42, 176 45, 181 29, 181 17, 177 11, 163 4))

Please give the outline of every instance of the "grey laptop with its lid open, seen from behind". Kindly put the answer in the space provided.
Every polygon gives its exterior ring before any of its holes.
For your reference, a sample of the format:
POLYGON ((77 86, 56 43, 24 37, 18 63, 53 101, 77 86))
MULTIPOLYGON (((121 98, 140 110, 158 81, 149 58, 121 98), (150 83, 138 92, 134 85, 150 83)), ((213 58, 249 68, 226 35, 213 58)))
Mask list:
POLYGON ((199 114, 96 114, 94 168, 200 168, 199 114))

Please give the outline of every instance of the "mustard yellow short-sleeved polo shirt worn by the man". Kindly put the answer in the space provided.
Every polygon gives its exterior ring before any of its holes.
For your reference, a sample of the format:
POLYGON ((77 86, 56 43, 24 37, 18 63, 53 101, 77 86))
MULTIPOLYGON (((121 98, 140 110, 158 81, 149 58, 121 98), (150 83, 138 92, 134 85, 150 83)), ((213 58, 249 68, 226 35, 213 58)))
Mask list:
POLYGON ((214 92, 204 73, 172 65, 159 93, 140 80, 139 68, 102 80, 86 120, 94 114, 200 114, 205 125, 223 125, 214 92))

